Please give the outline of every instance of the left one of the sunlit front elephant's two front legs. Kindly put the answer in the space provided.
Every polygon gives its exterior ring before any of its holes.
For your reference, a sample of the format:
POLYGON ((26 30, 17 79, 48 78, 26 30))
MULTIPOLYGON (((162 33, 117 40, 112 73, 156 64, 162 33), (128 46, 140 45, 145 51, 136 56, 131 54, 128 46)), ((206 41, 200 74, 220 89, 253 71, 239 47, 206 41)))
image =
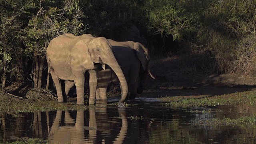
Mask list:
POLYGON ((84 104, 84 73, 74 74, 76 85, 76 104, 84 104))

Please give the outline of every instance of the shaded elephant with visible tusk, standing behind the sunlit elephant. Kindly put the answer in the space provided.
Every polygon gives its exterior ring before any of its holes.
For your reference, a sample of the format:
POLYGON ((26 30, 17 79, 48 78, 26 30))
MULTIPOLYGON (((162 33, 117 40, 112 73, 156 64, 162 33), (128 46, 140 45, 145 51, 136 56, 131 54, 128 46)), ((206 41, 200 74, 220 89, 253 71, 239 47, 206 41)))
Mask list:
MULTIPOLYGON (((124 73, 130 91, 129 99, 135 99, 137 94, 141 94, 146 86, 149 75, 152 76, 149 70, 150 56, 148 49, 139 42, 116 42, 108 39, 112 45, 112 52, 116 57, 118 64, 124 73)), ((116 74, 112 72, 110 67, 106 69, 99 68, 97 71, 98 89, 96 92, 97 100, 106 100, 106 90, 110 82, 118 83, 119 80, 116 74)))

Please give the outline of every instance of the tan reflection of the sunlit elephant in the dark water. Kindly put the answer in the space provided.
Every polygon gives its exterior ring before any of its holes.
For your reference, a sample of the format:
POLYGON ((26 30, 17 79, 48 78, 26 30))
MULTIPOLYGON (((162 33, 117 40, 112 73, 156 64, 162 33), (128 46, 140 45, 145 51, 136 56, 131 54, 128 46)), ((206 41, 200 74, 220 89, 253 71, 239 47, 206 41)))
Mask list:
MULTIPOLYGON (((127 133, 127 119, 124 109, 118 109, 119 115, 122 117, 122 127, 121 130, 116 137, 116 139, 113 141, 113 143, 120 144, 123 142, 126 133, 127 133)), ((65 143, 71 143, 71 144, 83 144, 83 143, 92 143, 96 144, 97 141, 97 124, 98 128, 102 129, 102 126, 107 122, 107 119, 104 119, 102 116, 99 115, 105 115, 106 116, 106 107, 92 107, 89 109, 89 127, 84 126, 84 110, 78 110, 76 112, 76 120, 74 120, 68 111, 62 112, 57 111, 56 118, 53 122, 52 128, 50 130, 49 134, 49 141, 50 143, 59 143, 59 144, 65 144, 65 143), (62 113, 65 114, 64 116, 64 126, 60 126, 62 113), (96 116, 97 115, 97 116, 96 116), (96 119, 99 118, 101 120, 96 119), (102 119, 103 118, 103 119, 102 119), (103 125, 101 125, 101 122, 103 125), (98 122, 98 123, 97 123, 98 122), (85 130, 89 131, 89 136, 85 136, 85 130)), ((106 116, 107 118, 107 116, 106 116)), ((109 128, 109 127, 108 127, 109 128)), ((104 128, 103 128, 104 129, 104 128)), ((104 129, 104 132, 106 129, 104 129)), ((108 132, 108 131, 107 131, 108 132)), ((108 132, 108 134, 110 131, 108 132)), ((100 138, 99 138, 100 139, 100 138)), ((102 139, 102 143, 104 143, 104 140, 102 139)))

